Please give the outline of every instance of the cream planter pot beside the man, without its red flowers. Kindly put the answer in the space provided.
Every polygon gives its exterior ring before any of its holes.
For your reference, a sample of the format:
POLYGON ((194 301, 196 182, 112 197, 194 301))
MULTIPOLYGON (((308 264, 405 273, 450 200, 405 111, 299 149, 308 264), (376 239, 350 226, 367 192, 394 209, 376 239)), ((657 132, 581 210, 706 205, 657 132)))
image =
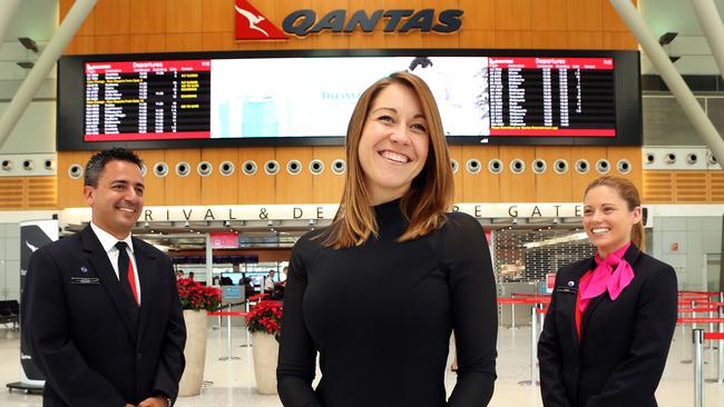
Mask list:
POLYGON ((178 384, 178 396, 198 396, 204 381, 204 365, 206 364, 206 311, 184 309, 186 322, 186 368, 178 384))

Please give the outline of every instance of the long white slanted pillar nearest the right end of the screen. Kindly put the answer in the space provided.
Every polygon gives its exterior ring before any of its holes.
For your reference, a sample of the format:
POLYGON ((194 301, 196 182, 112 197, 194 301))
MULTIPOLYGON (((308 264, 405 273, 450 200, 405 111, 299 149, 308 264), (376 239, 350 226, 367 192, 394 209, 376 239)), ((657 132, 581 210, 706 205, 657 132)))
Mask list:
POLYGON ((724 140, 712 125, 712 120, 706 116, 701 105, 694 98, 694 93, 688 89, 681 73, 668 59, 668 56, 654 38, 646 22, 638 14, 638 11, 632 4, 630 0, 609 0, 620 18, 626 22, 628 29, 636 36, 642 48, 654 63, 662 79, 672 91, 676 101, 686 113, 686 117, 694 126, 698 137, 712 149, 714 157, 720 161, 724 160, 724 140))

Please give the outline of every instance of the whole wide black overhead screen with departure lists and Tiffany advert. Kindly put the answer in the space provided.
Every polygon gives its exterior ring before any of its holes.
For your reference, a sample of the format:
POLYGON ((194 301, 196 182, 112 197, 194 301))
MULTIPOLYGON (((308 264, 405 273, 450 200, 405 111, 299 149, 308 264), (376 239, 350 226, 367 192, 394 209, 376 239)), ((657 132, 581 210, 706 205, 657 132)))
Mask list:
POLYGON ((637 52, 390 52, 63 57, 58 149, 343 145, 361 93, 394 71, 425 81, 451 143, 642 142, 637 52))

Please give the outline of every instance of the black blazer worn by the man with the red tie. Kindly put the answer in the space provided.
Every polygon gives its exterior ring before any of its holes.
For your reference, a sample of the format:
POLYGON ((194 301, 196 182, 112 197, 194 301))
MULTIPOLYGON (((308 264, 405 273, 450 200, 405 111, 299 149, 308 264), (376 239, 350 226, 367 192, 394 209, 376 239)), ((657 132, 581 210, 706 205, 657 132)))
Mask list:
POLYGON ((46 376, 43 406, 175 399, 186 327, 170 260, 133 239, 141 306, 123 291, 90 227, 32 254, 22 295, 23 340, 46 376))

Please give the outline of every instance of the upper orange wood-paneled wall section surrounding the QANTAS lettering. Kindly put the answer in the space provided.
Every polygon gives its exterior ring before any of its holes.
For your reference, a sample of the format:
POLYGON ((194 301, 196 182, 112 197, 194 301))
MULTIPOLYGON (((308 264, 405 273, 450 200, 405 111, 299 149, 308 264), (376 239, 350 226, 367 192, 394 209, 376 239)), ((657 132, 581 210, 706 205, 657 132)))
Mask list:
MULTIPOLYGON (((74 0, 60 0, 62 19, 74 0)), ((285 41, 234 39, 234 0, 100 0, 66 53, 128 53, 320 48, 534 48, 636 49, 608 0, 256 0, 277 27, 299 9, 321 18, 335 9, 433 8, 463 10, 460 31, 385 33, 322 32, 285 41)), ((351 14, 350 12, 350 14, 351 14)), ((385 21, 385 20, 383 20, 385 21)))

